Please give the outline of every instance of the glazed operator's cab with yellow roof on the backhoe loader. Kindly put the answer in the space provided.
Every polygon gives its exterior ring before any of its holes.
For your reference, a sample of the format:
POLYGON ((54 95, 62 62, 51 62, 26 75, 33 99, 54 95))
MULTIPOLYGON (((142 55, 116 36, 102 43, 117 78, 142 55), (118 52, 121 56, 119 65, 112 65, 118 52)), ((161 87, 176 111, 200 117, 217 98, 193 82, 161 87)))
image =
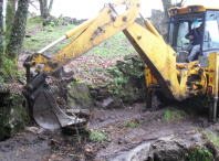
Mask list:
POLYGON ((167 42, 177 53, 177 63, 186 63, 195 45, 199 46, 196 46, 197 54, 191 61, 219 52, 219 8, 171 8, 169 15, 167 42), (188 33, 199 40, 198 44, 186 37, 188 33))

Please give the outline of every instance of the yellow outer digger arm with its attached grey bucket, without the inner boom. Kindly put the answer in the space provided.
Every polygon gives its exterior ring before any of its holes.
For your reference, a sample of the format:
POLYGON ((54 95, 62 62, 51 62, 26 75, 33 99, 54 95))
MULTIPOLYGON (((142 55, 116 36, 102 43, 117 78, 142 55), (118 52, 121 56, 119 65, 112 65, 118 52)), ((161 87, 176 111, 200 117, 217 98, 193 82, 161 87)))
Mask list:
POLYGON ((140 10, 139 0, 122 0, 106 6, 97 17, 82 23, 69 31, 65 35, 30 55, 23 63, 27 68, 27 86, 23 96, 27 99, 30 117, 41 127, 56 129, 85 120, 65 115, 58 106, 50 85, 45 80, 49 75, 63 67, 77 56, 109 39, 114 34, 131 25, 140 10), (117 7, 125 6, 126 10, 119 14, 117 7), (56 43, 77 35, 67 46, 50 58, 42 53, 56 43), (38 64, 44 64, 40 73, 31 78, 30 68, 38 64))

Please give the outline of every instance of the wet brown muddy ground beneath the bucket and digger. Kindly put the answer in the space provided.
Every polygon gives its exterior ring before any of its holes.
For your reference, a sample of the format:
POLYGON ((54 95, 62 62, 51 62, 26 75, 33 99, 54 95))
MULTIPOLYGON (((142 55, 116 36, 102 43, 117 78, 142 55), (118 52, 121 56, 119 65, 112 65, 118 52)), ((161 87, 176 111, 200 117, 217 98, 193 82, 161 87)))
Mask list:
POLYGON ((25 127, 15 137, 0 142, 2 161, 72 161, 113 160, 121 152, 160 137, 185 138, 195 131, 216 132, 218 122, 208 122, 207 115, 190 116, 182 112, 180 120, 165 118, 164 107, 154 99, 153 110, 144 111, 145 103, 126 105, 123 109, 95 110, 87 128, 105 135, 101 141, 91 141, 85 130, 76 132, 44 130, 38 126, 25 127))

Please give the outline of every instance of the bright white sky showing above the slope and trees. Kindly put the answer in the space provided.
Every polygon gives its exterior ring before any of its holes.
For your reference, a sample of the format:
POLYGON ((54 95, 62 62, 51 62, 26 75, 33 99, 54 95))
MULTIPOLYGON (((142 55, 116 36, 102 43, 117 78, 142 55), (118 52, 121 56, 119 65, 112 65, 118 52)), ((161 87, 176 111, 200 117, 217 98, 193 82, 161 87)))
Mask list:
MULTIPOLYGON (((63 17, 90 19, 95 17, 98 11, 101 11, 101 9, 104 7, 104 3, 114 3, 116 1, 118 0, 54 0, 51 14, 54 17, 60 17, 61 14, 63 14, 63 17)), ((150 17, 152 9, 163 10, 161 0, 140 0, 140 13, 145 18, 150 17)), ((219 0, 187 0, 185 6, 189 4, 219 7, 219 0)), ((35 6, 39 8, 39 3, 35 3, 35 6)), ((40 14, 40 11, 35 10, 31 6, 30 11, 40 14)))

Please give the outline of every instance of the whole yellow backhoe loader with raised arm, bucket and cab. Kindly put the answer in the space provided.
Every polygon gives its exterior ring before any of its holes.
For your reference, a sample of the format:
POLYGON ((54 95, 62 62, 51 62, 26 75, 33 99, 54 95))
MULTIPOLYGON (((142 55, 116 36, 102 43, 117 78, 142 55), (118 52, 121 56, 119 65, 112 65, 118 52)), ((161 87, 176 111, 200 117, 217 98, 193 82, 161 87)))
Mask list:
POLYGON ((165 98, 178 101, 206 95, 210 105, 210 119, 216 119, 219 8, 204 6, 171 8, 167 22, 169 28, 166 43, 150 21, 144 20, 146 28, 135 23, 140 7, 139 0, 108 3, 95 18, 77 25, 25 60, 23 65, 27 68, 28 84, 22 93, 27 99, 30 116, 38 125, 46 129, 56 129, 85 121, 62 112, 45 78, 121 31, 145 62, 147 108, 152 107, 153 90, 161 92, 165 98), (181 49, 190 43, 185 35, 195 28, 195 21, 204 24, 200 51, 196 61, 186 63, 189 51, 185 52, 181 49), (75 35, 76 37, 53 57, 43 55, 48 49, 75 35), (31 77, 30 68, 36 64, 44 64, 44 67, 38 75, 31 77))

